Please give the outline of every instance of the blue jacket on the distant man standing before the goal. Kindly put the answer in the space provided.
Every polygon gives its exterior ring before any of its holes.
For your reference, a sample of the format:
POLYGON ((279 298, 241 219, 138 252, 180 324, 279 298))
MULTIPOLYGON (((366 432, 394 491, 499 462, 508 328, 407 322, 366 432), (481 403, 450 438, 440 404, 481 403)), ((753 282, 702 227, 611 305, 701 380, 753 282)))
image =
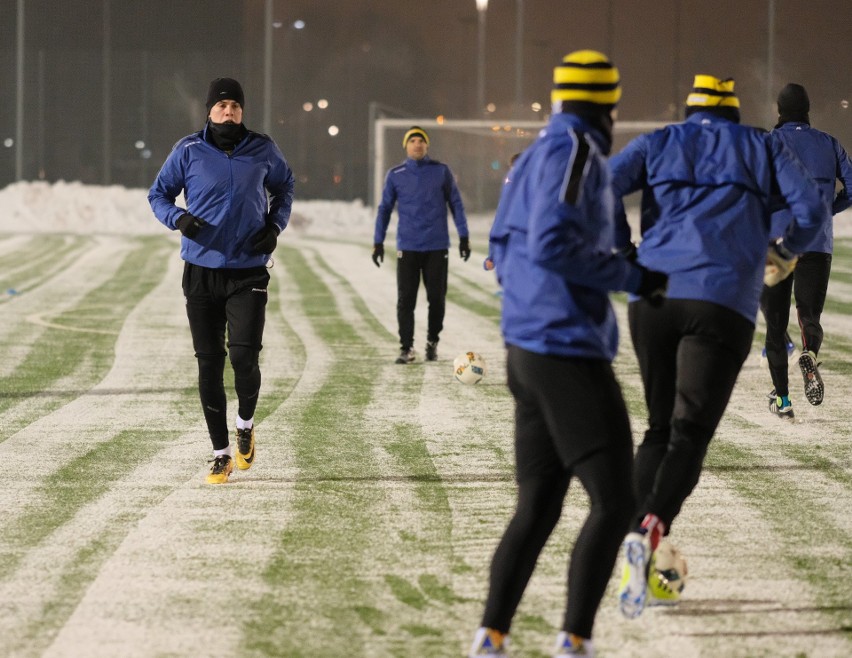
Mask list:
POLYGON ((407 158, 388 171, 376 215, 375 244, 385 241, 391 213, 397 205, 399 251, 440 251, 450 246, 447 206, 460 238, 468 237, 464 204, 450 168, 429 156, 407 158))

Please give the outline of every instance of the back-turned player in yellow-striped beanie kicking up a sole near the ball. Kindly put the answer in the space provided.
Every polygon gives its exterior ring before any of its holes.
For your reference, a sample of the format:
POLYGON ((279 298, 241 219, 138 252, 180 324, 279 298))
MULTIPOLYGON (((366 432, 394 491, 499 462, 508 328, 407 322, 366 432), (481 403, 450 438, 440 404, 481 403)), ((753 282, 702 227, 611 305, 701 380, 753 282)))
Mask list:
MULTIPOLYGON (((828 216, 795 156, 739 120, 734 81, 697 75, 685 121, 640 135, 610 160, 618 247, 630 246, 622 197, 642 190, 638 262, 669 275, 661 308, 628 303, 648 407, 619 590, 628 617, 644 609, 647 573, 657 577, 648 570, 652 551, 698 483, 751 348, 763 283, 789 274, 828 216), (775 182, 794 219, 767 251, 775 182)), ((666 603, 676 603, 671 595, 666 603)))

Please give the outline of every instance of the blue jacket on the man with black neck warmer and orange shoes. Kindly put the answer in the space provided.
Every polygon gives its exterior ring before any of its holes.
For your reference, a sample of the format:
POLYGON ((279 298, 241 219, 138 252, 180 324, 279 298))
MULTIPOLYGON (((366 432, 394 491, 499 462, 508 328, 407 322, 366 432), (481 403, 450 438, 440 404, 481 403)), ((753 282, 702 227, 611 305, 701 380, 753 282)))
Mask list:
POLYGON ((206 141, 204 130, 172 148, 148 193, 154 215, 174 230, 185 212, 203 226, 181 239, 185 261, 209 268, 262 267, 269 254, 254 253, 251 243, 267 222, 284 230, 293 205, 293 172, 266 135, 248 132, 230 155, 206 141), (175 205, 183 192, 186 210, 175 205))

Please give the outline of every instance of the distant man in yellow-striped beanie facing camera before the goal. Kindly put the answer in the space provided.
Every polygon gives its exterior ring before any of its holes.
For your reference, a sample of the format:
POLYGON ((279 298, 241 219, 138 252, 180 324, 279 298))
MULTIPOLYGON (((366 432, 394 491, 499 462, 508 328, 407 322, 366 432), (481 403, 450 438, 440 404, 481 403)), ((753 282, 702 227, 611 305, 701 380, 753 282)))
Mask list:
POLYGON ((391 213, 397 208, 396 231, 396 318, 399 325, 400 351, 396 362, 412 363, 414 352, 414 308, 420 278, 429 303, 426 332, 426 360, 438 359, 438 340, 444 328, 447 297, 450 232, 447 206, 459 234, 459 254, 470 258, 470 239, 464 204, 450 168, 433 160, 429 135, 412 126, 402 138, 405 162, 391 169, 385 178, 382 201, 376 215, 373 236, 373 262, 380 267, 385 258, 385 236, 391 213))

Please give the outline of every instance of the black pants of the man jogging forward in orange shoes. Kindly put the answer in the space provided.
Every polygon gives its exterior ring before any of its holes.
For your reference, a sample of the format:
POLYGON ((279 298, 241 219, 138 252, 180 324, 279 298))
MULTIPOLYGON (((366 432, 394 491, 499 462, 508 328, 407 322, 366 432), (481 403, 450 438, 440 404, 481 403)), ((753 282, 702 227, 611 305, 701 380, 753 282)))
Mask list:
POLYGON ((214 450, 227 448, 229 443, 226 355, 234 369, 240 418, 252 418, 257 407, 268 283, 266 268, 210 269, 190 263, 184 267, 183 292, 198 359, 198 392, 214 450))

